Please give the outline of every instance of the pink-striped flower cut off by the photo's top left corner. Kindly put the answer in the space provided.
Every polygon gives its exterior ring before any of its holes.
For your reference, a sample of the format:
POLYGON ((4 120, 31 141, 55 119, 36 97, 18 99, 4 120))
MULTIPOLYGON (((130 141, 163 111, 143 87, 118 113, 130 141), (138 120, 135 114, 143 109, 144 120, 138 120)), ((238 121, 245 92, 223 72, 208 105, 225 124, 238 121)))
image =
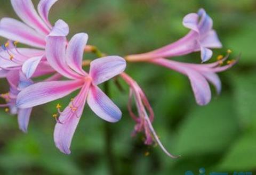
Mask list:
MULTIPOLYGON (((57 1, 41 0, 37 6, 37 13, 31 0, 11 0, 15 13, 23 22, 12 18, 3 18, 0 21, 0 36, 14 41, 14 45, 11 41, 7 41, 0 51, 1 69, 10 70, 22 67, 22 72, 27 78, 33 76, 41 63, 44 69, 50 69, 45 59, 45 38, 54 30, 48 16, 51 7, 57 1), (35 48, 17 48, 18 41, 35 48)), ((65 28, 65 34, 61 35, 66 36, 69 30, 68 25, 58 20, 55 26, 60 24, 65 28)))

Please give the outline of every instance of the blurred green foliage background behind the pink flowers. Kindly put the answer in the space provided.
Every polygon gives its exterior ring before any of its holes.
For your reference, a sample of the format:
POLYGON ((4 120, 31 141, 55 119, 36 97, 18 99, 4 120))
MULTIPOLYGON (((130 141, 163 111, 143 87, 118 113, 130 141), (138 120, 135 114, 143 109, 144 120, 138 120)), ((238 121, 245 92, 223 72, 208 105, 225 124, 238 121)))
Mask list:
MULTIPOLYGON (((37 4, 38 1, 33 1, 37 4)), ((167 157, 156 146, 143 145, 143 135, 132 138, 134 122, 126 110, 128 89, 121 93, 110 83, 111 97, 123 112, 120 122, 109 124, 86 107, 71 146, 71 155, 61 154, 53 143, 58 102, 35 107, 28 134, 22 134, 16 116, 0 111, 0 174, 111 174, 106 154, 106 127, 110 128, 116 174, 206 174, 222 171, 256 173, 256 1, 255 0, 59 0, 50 13, 54 23, 65 20, 70 35, 89 34, 89 44, 109 55, 151 51, 186 35, 182 26, 187 13, 203 7, 214 20, 223 49, 242 53, 239 63, 220 73, 223 90, 211 103, 198 106, 187 77, 149 64, 129 64, 129 73, 145 90, 155 111, 154 127, 166 148, 181 154, 167 157), (149 152, 148 156, 145 153, 149 152)), ((15 16, 10 2, 2 1, 0 18, 15 16)), ((1 39, 4 42, 4 39, 1 39)), ((92 55, 89 55, 92 56, 92 55)), ((199 63, 199 53, 178 60, 199 63)), ((7 84, 1 80, 1 93, 7 84)))

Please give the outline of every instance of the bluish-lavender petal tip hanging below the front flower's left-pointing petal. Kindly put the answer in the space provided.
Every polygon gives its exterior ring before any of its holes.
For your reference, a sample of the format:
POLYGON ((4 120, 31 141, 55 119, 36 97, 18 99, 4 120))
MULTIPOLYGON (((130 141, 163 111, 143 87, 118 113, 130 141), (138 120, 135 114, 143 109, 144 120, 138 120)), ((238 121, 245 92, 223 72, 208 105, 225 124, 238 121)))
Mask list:
POLYGON ((19 124, 20 130, 22 130, 23 132, 28 131, 28 123, 29 123, 31 111, 32 111, 32 108, 19 109, 18 111, 18 124, 19 124))

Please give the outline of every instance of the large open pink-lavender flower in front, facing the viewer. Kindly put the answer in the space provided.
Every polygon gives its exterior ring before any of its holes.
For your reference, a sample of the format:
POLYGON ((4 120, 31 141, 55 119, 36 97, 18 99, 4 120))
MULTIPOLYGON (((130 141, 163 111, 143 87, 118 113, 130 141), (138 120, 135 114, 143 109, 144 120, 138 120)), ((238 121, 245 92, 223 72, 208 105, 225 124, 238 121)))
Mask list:
POLYGON ((61 112, 60 105, 57 105, 59 119, 54 129, 54 142, 65 154, 70 154, 71 140, 86 102, 96 115, 108 122, 117 122, 122 115, 98 85, 122 73, 126 62, 119 56, 107 56, 93 60, 90 72, 85 72, 82 60, 87 39, 87 34, 76 34, 67 46, 66 37, 50 34, 46 39, 47 61, 63 77, 71 80, 39 82, 23 89, 17 97, 17 106, 23 109, 54 101, 81 89, 65 110, 61 112))

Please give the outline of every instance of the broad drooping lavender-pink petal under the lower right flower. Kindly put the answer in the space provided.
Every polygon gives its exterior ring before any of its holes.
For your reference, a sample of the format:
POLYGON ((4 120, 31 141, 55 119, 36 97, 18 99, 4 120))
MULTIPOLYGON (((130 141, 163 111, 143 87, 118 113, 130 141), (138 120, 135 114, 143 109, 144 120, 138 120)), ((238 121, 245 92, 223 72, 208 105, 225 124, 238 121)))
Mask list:
POLYGON ((202 76, 202 74, 189 68, 186 69, 186 73, 194 91, 197 104, 208 104, 211 101, 211 90, 207 80, 202 76))

